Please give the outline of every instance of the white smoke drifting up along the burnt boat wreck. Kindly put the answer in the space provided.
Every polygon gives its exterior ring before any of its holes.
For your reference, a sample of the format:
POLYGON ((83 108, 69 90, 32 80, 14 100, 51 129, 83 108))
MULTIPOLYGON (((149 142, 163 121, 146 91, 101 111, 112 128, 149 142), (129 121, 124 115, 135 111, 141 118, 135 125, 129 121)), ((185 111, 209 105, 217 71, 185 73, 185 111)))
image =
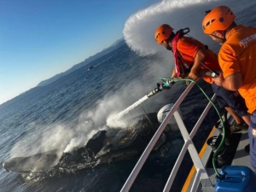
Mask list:
MULTIPOLYGON (((60 148, 58 155, 61 155, 62 152, 71 152, 74 148, 84 146, 97 131, 108 131, 109 127, 106 125, 108 117, 123 111, 137 101, 137 98, 142 97, 140 91, 131 91, 139 90, 139 87, 143 87, 143 85, 140 83, 127 84, 123 89, 106 95, 102 100, 96 102, 93 108, 81 113, 77 125, 73 127, 61 123, 56 125, 31 123, 29 125, 31 131, 27 132, 26 137, 15 143, 10 157, 29 156, 55 148, 60 148), (38 133, 39 130, 42 132, 38 133)), ((140 113, 143 113, 142 110, 133 111, 129 117, 137 116, 140 113)), ((113 126, 125 128, 128 125, 131 125, 131 121, 127 122, 124 118, 119 120, 118 125, 113 126)))

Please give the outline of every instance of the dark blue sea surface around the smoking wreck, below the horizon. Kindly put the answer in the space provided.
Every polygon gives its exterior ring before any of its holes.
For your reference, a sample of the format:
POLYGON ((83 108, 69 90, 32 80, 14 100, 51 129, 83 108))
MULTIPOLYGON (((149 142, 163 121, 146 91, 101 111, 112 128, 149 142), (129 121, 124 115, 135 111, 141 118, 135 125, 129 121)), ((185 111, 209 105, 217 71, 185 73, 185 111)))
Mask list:
MULTIPOLYGON (((102 60, 101 65, 90 71, 87 71, 87 67, 82 67, 53 84, 32 90, 28 96, 21 95, 3 104, 0 109, 1 161, 9 156, 26 156, 59 147, 68 151, 68 148, 83 145, 96 131, 107 129, 106 121, 110 113, 119 113, 128 108, 160 82, 160 79, 151 77, 150 73, 143 76, 153 58, 141 58, 127 46, 115 50, 111 56, 102 60)), ((209 95, 212 94, 208 84, 201 81, 201 85, 209 95)), ((146 113, 157 112, 165 104, 175 102, 185 88, 184 83, 177 83, 172 90, 162 91, 148 98, 133 108, 131 113, 135 116, 142 114, 142 108, 146 113)), ((203 110, 202 102, 206 103, 207 100, 194 88, 181 107, 190 129, 203 110), (194 97, 200 99, 201 103, 191 100, 194 97), (189 113, 195 115, 190 116, 189 113)), ((123 127, 125 129, 125 125, 123 127)), ((175 133, 173 137, 172 143, 177 146, 173 146, 170 159, 149 160, 138 176, 135 191, 145 189, 149 181, 158 183, 150 187, 151 191, 163 187, 183 143, 179 133, 175 133)), ((19 174, 4 172, 2 168, 1 190, 119 191, 136 162, 137 160, 128 160, 99 170, 71 173, 65 177, 53 177, 32 184, 25 183, 19 174)))

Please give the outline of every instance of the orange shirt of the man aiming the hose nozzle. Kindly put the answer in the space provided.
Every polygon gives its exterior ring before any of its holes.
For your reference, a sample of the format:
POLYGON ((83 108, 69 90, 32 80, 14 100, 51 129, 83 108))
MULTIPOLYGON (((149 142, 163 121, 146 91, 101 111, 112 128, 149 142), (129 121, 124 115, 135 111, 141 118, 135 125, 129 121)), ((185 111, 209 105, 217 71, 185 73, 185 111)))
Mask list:
MULTIPOLYGON (((183 65, 184 68, 190 67, 195 61, 195 55, 197 54, 199 49, 205 49, 205 45, 201 44, 201 42, 195 40, 194 38, 183 37, 177 41, 177 50, 182 55, 183 65)), ((207 58, 204 64, 212 69, 213 71, 220 70, 218 65, 218 55, 214 54, 212 50, 207 49, 207 58)), ((204 66, 201 66, 200 70, 207 70, 208 69, 204 66)), ((212 77, 202 77, 205 81, 212 84, 212 77)))

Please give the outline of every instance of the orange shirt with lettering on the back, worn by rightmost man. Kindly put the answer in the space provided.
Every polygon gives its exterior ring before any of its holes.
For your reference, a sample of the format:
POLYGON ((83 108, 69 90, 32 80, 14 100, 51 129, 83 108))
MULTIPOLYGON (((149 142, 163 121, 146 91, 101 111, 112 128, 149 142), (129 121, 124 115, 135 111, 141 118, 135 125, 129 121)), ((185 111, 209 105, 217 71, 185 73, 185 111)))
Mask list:
POLYGON ((248 113, 256 109, 256 28, 236 26, 218 53, 224 78, 241 73, 239 93, 245 99, 248 113))

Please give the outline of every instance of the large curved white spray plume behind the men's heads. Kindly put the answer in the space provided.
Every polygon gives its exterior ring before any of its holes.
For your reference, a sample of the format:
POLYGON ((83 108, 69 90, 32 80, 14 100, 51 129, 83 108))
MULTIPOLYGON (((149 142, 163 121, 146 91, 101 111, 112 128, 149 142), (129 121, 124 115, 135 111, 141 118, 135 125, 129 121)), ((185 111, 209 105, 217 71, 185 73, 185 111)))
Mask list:
POLYGON ((201 29, 201 20, 206 10, 203 8, 203 4, 207 8, 211 8, 210 2, 214 1, 163 0, 148 7, 148 9, 140 10, 135 15, 131 15, 125 22, 123 30, 125 42, 139 55, 164 52, 166 56, 170 57, 170 53, 166 49, 155 43, 154 32, 156 28, 164 23, 171 25, 175 31, 189 26, 191 33, 196 32, 197 37, 195 38, 201 38, 203 32, 198 29, 201 29), (195 18, 195 8, 199 6, 201 6, 201 17, 195 18))

